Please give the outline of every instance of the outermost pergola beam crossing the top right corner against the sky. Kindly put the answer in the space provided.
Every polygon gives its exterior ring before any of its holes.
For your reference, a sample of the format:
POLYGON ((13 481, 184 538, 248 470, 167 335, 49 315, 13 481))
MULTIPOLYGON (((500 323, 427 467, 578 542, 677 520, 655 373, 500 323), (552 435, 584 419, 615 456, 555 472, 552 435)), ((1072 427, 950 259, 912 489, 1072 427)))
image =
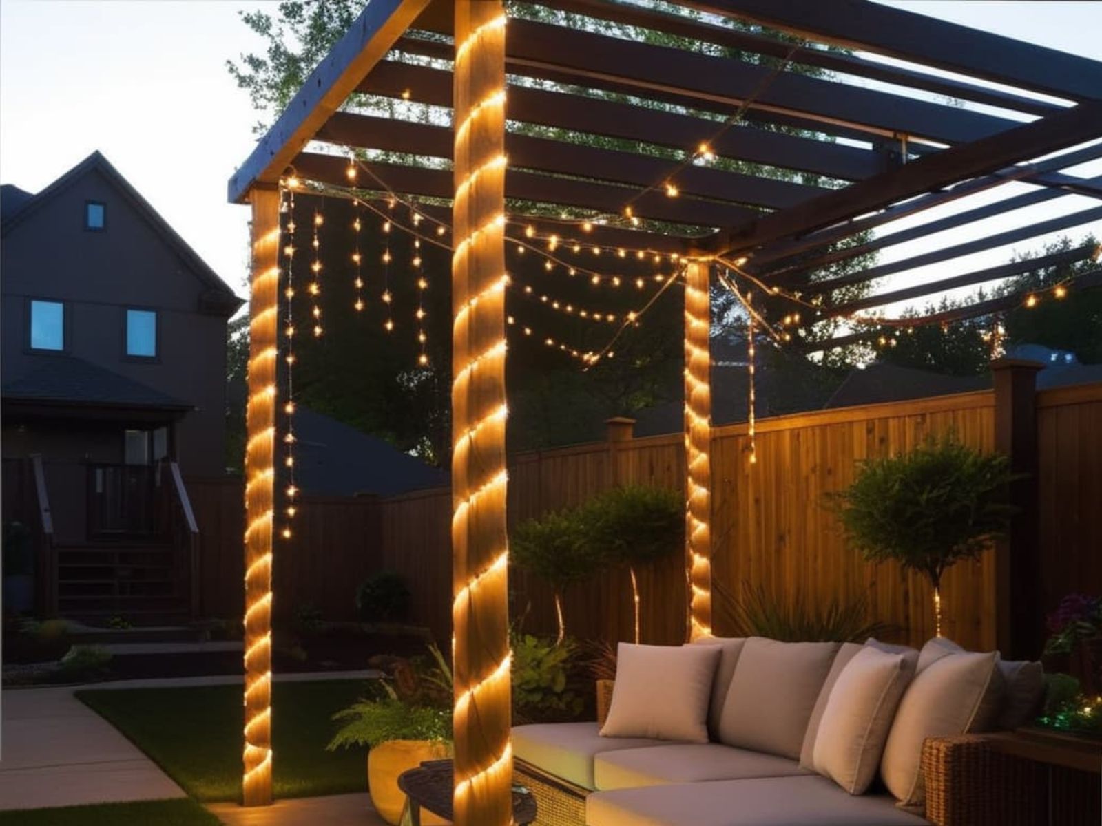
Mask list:
POLYGON ((1006 86, 1070 100, 1102 99, 1102 63, 867 0, 684 0, 684 4, 1006 86))

